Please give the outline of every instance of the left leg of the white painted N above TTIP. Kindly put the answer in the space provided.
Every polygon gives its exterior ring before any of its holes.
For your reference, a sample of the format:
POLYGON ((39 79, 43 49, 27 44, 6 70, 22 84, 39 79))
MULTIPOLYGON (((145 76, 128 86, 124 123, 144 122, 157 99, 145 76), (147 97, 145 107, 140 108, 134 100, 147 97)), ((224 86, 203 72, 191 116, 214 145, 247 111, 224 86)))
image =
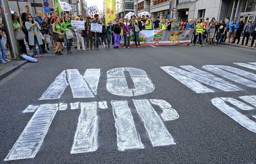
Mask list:
POLYGON ((58 99, 61 97, 62 93, 66 90, 68 83, 66 81, 66 71, 62 71, 47 88, 45 93, 39 100, 51 100, 58 99))

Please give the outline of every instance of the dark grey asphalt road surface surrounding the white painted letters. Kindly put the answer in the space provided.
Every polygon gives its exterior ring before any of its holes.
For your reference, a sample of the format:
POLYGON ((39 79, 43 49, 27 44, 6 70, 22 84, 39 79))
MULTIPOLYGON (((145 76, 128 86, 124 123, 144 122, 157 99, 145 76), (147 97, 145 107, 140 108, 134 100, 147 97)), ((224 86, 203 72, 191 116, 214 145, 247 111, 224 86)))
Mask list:
MULTIPOLYGON (((239 85, 241 91, 195 93, 170 76, 160 67, 204 65, 232 66, 256 73, 255 70, 237 66, 234 62, 256 62, 256 51, 243 48, 208 45, 159 46, 130 49, 104 49, 93 51, 73 50, 72 54, 40 58, 38 63, 27 63, 6 79, 0 81, 0 163, 256 163, 256 133, 235 122, 218 108, 211 99, 256 95, 256 88, 239 85), (117 96, 106 89, 106 73, 112 68, 134 67, 142 69, 151 79, 155 90, 140 96, 117 96), (54 79, 65 69, 100 68, 101 76, 95 98, 73 98, 68 86, 60 99, 39 100, 54 79), (132 100, 160 99, 169 102, 179 118, 164 121, 176 145, 152 146, 143 122, 132 100), (126 100, 131 108, 136 130, 143 149, 119 151, 115 118, 111 101, 126 100), (47 103, 72 103, 107 101, 107 109, 97 109, 99 135, 98 149, 93 152, 71 154, 80 109, 57 111, 35 158, 4 161, 34 115, 22 113, 28 105, 47 103)), ((204 70, 205 71, 205 70, 204 70)), ((212 73, 214 74, 214 73, 212 73)), ((220 77, 214 74, 217 77, 220 77)), ((132 86, 128 81, 128 86, 132 86)), ((249 105, 249 104, 247 104, 249 105)), ((250 105, 252 106, 252 105, 250 105)), ((161 110, 155 109, 160 115, 161 110)), ((256 115, 256 108, 251 112, 256 115)), ((253 118, 252 118, 253 120, 253 118)), ((256 118, 253 120, 256 122, 256 118)))

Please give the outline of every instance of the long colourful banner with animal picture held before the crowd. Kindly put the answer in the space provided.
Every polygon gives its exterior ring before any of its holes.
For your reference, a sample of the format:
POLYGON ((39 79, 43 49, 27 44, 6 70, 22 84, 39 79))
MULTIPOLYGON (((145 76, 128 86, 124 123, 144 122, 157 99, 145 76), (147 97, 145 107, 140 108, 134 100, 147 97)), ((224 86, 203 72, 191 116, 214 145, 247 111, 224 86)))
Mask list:
MULTIPOLYGON (((160 46, 189 44, 193 36, 193 29, 183 31, 168 30, 142 30, 139 34, 141 46, 160 46)), ((124 37, 121 38, 120 44, 124 44, 124 37)), ((135 45, 134 32, 130 33, 130 44, 135 45)))

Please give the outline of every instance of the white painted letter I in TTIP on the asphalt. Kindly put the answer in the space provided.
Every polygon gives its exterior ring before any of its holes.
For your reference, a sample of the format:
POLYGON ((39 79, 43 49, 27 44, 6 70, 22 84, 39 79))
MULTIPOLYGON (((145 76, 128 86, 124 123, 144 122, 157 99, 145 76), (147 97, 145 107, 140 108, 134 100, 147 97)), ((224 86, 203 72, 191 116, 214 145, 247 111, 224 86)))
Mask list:
POLYGON ((111 101, 119 151, 144 148, 127 101, 111 101))

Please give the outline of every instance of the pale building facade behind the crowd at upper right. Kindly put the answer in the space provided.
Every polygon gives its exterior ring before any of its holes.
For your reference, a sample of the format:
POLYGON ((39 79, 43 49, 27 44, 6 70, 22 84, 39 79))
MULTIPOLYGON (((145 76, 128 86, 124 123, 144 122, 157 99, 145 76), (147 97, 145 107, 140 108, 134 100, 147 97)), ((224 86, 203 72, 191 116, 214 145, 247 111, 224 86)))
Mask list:
POLYGON ((228 16, 256 22, 256 0, 134 0, 134 12, 150 12, 151 18, 213 18, 228 16))

